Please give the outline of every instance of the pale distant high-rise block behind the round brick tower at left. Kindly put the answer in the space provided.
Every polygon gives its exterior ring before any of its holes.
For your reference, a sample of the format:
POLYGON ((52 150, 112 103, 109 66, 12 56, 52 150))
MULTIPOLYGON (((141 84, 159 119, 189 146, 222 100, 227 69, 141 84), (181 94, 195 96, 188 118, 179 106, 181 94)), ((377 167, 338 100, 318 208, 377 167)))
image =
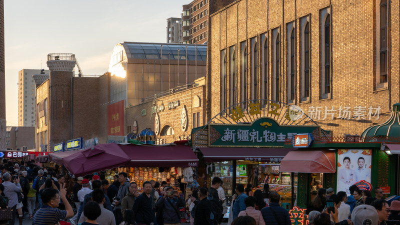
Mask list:
MULTIPOLYGON (((40 69, 22 69, 18 71, 18 126, 34 126, 35 124, 35 89, 33 75, 40 74, 40 69)), ((49 75, 49 70, 43 71, 49 75)))

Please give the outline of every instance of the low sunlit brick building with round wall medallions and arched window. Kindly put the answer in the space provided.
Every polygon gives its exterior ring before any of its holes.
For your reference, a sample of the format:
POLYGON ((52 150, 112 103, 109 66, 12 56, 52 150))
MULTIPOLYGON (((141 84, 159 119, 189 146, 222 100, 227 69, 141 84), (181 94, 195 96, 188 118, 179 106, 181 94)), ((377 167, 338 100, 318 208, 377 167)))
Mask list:
POLYGON ((156 144, 187 139, 192 128, 205 124, 204 99, 205 77, 201 77, 185 90, 127 107, 126 129, 140 133, 150 128, 156 144))

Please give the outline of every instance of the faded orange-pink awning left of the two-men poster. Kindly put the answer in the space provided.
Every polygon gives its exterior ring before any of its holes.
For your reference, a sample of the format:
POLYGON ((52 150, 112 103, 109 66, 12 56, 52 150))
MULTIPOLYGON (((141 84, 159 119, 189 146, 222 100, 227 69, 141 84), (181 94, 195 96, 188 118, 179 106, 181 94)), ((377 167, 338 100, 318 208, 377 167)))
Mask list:
POLYGON ((280 172, 328 172, 336 171, 336 156, 331 150, 289 151, 280 161, 280 172))

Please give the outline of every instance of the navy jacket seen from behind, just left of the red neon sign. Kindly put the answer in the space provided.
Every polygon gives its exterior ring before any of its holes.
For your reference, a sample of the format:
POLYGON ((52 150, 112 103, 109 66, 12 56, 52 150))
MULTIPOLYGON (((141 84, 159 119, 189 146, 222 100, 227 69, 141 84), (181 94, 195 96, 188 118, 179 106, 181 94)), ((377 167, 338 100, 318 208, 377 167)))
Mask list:
POLYGON ((264 218, 265 224, 268 225, 291 225, 289 213, 285 208, 280 207, 279 203, 271 202, 268 207, 261 209, 261 215, 264 218), (275 212, 276 216, 273 214, 275 212), (279 223, 277 222, 279 220, 279 223))

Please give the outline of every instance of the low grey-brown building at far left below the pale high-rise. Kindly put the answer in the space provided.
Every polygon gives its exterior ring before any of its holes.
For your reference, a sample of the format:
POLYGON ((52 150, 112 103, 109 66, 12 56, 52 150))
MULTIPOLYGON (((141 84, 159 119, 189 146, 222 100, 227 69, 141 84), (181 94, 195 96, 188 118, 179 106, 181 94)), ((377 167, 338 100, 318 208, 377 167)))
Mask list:
POLYGON ((34 132, 32 126, 7 126, 5 133, 5 147, 8 150, 29 150, 34 149, 34 132), (26 147, 26 149, 23 149, 26 147))

